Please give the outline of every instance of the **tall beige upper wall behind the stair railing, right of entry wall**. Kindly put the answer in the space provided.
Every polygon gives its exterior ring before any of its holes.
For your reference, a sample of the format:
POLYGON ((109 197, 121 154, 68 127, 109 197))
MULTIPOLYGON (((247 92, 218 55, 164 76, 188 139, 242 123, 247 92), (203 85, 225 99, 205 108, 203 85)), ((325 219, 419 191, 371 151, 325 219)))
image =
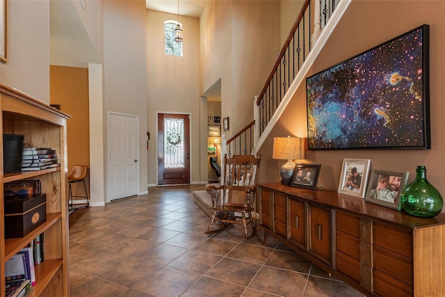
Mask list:
POLYGON ((252 121, 254 95, 280 51, 280 1, 209 1, 200 26, 201 89, 221 80, 229 137, 252 121))

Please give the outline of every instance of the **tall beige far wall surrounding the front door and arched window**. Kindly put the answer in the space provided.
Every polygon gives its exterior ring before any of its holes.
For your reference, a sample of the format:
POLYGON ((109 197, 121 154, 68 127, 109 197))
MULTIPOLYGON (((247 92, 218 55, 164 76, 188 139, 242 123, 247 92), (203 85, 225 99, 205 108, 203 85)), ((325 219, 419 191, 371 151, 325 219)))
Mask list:
POLYGON ((191 183, 200 183, 199 19, 179 17, 184 38, 181 57, 164 54, 167 20, 177 21, 177 15, 147 10, 147 129, 152 136, 147 151, 148 184, 158 181, 156 113, 191 114, 191 183))

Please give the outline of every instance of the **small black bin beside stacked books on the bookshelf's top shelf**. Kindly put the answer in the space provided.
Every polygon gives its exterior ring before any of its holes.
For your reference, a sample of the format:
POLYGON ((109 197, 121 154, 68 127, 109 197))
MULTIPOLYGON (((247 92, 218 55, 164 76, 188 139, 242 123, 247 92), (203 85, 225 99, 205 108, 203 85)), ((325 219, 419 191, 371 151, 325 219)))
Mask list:
POLYGON ((20 171, 23 141, 23 135, 3 134, 3 173, 20 171))

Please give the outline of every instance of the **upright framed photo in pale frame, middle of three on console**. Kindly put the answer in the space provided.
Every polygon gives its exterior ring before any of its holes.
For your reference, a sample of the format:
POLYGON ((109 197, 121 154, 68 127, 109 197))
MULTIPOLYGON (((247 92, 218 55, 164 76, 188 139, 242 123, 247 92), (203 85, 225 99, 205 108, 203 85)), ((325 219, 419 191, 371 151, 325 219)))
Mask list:
POLYGON ((338 193, 364 198, 370 159, 343 159, 338 193))

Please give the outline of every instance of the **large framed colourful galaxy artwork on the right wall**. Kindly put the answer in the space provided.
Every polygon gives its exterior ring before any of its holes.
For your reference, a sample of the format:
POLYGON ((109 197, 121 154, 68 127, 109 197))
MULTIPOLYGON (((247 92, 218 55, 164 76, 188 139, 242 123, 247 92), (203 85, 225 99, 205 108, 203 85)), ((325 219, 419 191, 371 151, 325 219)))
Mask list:
POLYGON ((429 149, 428 54, 422 25, 308 77, 308 149, 429 149))

